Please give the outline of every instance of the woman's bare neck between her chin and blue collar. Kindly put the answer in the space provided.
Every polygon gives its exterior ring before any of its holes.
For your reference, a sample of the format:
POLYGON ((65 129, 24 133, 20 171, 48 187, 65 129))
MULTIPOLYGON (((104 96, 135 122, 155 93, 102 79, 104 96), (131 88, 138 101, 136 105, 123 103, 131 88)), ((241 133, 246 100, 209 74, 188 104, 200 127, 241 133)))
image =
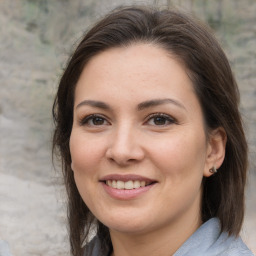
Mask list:
POLYGON ((179 218, 172 225, 140 234, 127 234, 110 230, 112 256, 170 256, 202 224, 201 218, 179 218))

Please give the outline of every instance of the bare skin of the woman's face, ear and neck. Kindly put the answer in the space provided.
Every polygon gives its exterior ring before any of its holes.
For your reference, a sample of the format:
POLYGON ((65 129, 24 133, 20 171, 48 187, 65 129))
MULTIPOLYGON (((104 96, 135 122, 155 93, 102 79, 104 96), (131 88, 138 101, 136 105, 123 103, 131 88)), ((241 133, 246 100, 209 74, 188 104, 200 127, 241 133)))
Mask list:
POLYGON ((70 151, 78 190, 109 227, 113 255, 167 256, 202 223, 202 178, 221 165, 225 134, 217 129, 206 137, 180 62, 156 45, 134 44, 100 53, 85 66, 75 90, 70 151), (156 113, 165 116, 152 117, 156 113), (99 118, 85 120, 91 114, 99 118), (99 182, 109 174, 138 174, 156 184, 119 200, 99 182))

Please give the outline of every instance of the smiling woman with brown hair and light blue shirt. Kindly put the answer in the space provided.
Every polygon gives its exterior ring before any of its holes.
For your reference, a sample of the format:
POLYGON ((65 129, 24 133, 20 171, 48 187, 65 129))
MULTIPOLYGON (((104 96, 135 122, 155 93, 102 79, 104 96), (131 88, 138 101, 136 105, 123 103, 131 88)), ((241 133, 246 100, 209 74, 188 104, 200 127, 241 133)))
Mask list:
POLYGON ((238 101, 225 54, 191 17, 133 6, 91 28, 53 107, 72 254, 252 255, 238 101))

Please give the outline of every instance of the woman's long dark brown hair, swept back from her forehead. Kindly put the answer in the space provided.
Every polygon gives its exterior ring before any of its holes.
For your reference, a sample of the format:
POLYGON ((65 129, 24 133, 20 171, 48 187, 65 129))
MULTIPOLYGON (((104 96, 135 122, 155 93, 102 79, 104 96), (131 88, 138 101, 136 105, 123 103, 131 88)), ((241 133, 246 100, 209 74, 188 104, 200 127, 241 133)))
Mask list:
POLYGON ((122 7, 99 21, 83 37, 60 80, 53 105, 56 129, 53 149, 62 159, 68 194, 70 243, 73 255, 82 255, 82 244, 94 224, 102 249, 111 246, 107 227, 83 202, 71 170, 69 138, 73 123, 74 90, 86 63, 112 47, 135 42, 154 43, 175 56, 188 70, 201 104, 207 131, 223 127, 226 156, 217 174, 203 179, 202 218, 218 217, 222 231, 238 235, 244 217, 247 143, 238 110, 239 92, 228 60, 209 29, 173 10, 122 7))

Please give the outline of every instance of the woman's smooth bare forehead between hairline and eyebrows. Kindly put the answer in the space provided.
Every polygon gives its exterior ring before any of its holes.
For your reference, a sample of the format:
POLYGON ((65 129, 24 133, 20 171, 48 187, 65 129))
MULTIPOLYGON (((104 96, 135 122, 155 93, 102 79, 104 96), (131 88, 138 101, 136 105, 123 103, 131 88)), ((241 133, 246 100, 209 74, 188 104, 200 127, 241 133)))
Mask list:
MULTIPOLYGON (((84 67, 77 83, 88 92, 97 90, 137 91, 183 88, 193 84, 181 61, 152 44, 134 44, 108 49, 94 56, 84 67)), ((183 88, 185 89, 185 88, 183 88)), ((80 93, 76 93, 78 96, 80 93)))

